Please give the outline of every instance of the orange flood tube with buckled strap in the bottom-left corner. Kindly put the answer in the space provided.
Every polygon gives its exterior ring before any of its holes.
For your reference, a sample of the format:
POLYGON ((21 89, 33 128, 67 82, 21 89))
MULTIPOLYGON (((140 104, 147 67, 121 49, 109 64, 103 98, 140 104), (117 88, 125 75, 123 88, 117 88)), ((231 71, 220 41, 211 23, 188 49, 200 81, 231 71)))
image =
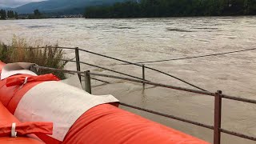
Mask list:
POLYGON ((52 123, 49 122, 19 122, 0 102, 0 143, 2 144, 42 144, 44 142, 41 140, 26 137, 27 134, 52 134, 52 127, 52 123), (10 138, 11 136, 13 138, 10 138))

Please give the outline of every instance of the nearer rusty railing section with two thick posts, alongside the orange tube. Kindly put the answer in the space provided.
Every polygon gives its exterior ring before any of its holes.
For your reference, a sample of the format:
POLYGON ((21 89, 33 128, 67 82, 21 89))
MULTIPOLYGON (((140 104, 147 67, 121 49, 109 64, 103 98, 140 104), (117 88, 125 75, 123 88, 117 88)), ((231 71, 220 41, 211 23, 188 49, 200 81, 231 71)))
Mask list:
MULTIPOLYGON (((49 67, 43 67, 43 66, 35 66, 35 68, 44 69, 44 70, 60 70, 60 69, 54 69, 54 68, 49 68, 49 67)), ((188 88, 184 88, 184 87, 165 85, 165 84, 157 83, 157 82, 150 82, 150 81, 144 81, 144 80, 133 79, 133 78, 123 78, 123 77, 118 77, 118 76, 109 75, 109 74, 91 73, 89 70, 83 71, 83 72, 82 71, 74 71, 74 70, 61 70, 61 71, 67 72, 67 73, 84 74, 83 76, 85 76, 85 87, 86 87, 85 90, 90 94, 91 94, 90 75, 92 75, 92 76, 98 76, 98 77, 104 77, 104 78, 122 79, 122 80, 126 80, 129 82, 142 83, 143 85, 148 84, 148 85, 152 85, 152 86, 161 86, 161 87, 166 87, 166 88, 170 88, 170 89, 174 89, 174 90, 182 90, 182 91, 186 91, 186 92, 190 92, 190 93, 194 93, 194 94, 204 94, 204 95, 212 96, 212 97, 214 97, 214 126, 210 126, 210 125, 200 123, 200 122, 194 122, 194 121, 188 120, 186 118, 179 118, 177 116, 170 115, 170 114, 162 114, 158 111, 148 110, 148 109, 138 107, 138 106, 132 106, 130 104, 126 104, 123 102, 120 102, 120 104, 122 106, 128 106, 130 108, 146 111, 151 114, 157 114, 157 115, 160 115, 160 116, 163 116, 166 118, 172 118, 172 119, 175 119, 175 120, 178 120, 181 122, 187 122, 187 123, 193 124, 195 126, 202 126, 204 128, 214 130, 214 144, 220 144, 221 133, 230 134, 230 135, 234 135, 234 136, 237 136, 240 138, 246 138, 246 139, 249 139, 252 141, 256 141, 256 137, 246 135, 246 134, 241 134, 241 133, 230 131, 230 130, 225 130, 221 126, 221 123, 222 123, 222 98, 239 101, 239 102, 249 102, 249 103, 256 104, 256 100, 254 100, 254 99, 238 98, 238 97, 222 94, 221 90, 218 90, 216 93, 211 93, 208 91, 192 90, 192 89, 188 89, 188 88)))

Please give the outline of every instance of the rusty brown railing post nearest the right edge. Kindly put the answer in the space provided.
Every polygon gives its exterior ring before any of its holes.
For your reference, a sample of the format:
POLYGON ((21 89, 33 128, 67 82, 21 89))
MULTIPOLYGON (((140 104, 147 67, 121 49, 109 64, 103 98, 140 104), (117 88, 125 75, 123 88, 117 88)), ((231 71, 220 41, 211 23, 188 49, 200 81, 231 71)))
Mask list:
POLYGON ((214 144, 221 143, 222 127, 222 91, 218 90, 214 98, 214 144))

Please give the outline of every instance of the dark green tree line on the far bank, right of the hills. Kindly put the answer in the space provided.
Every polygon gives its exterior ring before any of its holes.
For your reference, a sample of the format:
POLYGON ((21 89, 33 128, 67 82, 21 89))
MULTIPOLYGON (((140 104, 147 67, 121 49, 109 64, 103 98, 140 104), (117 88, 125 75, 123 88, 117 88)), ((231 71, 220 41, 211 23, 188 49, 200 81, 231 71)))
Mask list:
POLYGON ((86 7, 85 18, 255 15, 256 0, 130 0, 86 7))

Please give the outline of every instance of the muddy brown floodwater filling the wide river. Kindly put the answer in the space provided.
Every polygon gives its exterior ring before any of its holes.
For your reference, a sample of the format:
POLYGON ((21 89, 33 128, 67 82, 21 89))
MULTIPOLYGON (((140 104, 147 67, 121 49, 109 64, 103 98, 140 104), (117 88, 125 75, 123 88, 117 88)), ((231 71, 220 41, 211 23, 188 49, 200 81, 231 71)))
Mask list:
MULTIPOLYGON (((59 46, 79 47, 130 62, 146 62, 256 48, 256 17, 0 21, 0 41, 10 43, 14 34, 26 38, 33 45, 58 43, 59 46)), ((66 58, 74 58, 74 51, 66 50, 66 58)), ((122 65, 122 62, 83 52, 80 52, 80 60, 142 77, 142 68, 138 66, 122 65)), ((256 50, 147 63, 146 66, 173 74, 211 92, 222 90, 223 94, 256 99, 256 50)), ((66 69, 75 70, 75 64, 69 63, 66 69)), ((113 74, 85 65, 82 65, 82 70, 113 74)), ((213 125, 214 98, 210 96, 147 85, 143 90, 142 84, 100 79, 111 84, 102 85, 101 82, 92 81, 93 94, 113 94, 121 102, 213 125)), ((193 88, 152 70, 146 70, 146 79, 193 88)), ((212 130, 121 107, 213 142, 212 130)), ((222 128, 256 137, 255 111, 256 105, 223 99, 222 128)), ((222 143, 254 142, 222 134, 222 143)))

